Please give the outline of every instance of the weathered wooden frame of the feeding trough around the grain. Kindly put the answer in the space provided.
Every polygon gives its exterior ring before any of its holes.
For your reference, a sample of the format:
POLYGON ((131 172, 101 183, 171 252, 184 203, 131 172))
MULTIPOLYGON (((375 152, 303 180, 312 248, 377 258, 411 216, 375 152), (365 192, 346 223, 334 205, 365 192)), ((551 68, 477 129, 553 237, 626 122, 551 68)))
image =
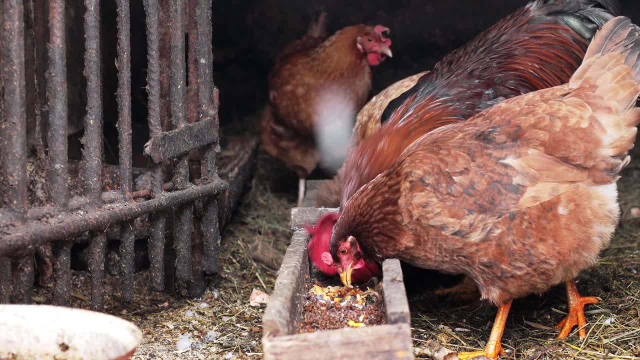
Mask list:
POLYGON ((397 259, 388 259, 382 265, 385 324, 297 333, 307 295, 307 277, 313 279, 307 255, 309 235, 303 226, 315 224, 328 211, 337 209, 291 211, 294 234, 262 319, 263 359, 413 359, 409 305, 397 259))

